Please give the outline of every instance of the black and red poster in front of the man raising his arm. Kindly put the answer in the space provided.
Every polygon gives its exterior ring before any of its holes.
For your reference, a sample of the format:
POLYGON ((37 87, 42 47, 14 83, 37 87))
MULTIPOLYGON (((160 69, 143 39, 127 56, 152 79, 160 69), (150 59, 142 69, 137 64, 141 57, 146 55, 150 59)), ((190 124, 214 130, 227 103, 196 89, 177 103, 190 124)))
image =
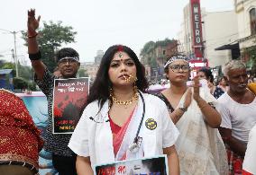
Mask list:
POLYGON ((85 109, 89 78, 55 79, 52 103, 53 134, 71 134, 85 109))

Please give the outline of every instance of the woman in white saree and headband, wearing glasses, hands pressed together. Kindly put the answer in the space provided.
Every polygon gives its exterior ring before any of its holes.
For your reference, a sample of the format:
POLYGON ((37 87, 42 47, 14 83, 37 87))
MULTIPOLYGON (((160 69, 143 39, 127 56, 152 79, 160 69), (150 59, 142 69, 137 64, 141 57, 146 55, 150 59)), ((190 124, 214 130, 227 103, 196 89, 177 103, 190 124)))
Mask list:
POLYGON ((169 58, 165 72, 170 87, 157 94, 165 101, 180 132, 175 144, 180 174, 227 174, 224 142, 217 129, 221 116, 215 110, 215 97, 200 87, 198 77, 188 87, 189 69, 187 57, 169 58))

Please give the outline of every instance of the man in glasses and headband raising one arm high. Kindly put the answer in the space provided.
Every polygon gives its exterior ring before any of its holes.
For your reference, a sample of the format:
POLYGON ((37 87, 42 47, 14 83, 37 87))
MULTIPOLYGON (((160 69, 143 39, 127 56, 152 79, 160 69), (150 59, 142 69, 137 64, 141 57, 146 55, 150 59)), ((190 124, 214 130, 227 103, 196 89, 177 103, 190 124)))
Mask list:
MULTIPOLYGON (((28 53, 35 71, 35 82, 41 88, 48 100, 48 125, 46 129, 44 148, 52 153, 52 163, 54 168, 61 175, 77 174, 76 156, 69 149, 69 139, 71 134, 52 133, 52 102, 54 79, 58 77, 51 74, 47 67, 41 61, 41 52, 36 40, 39 27, 40 16, 35 19, 35 10, 28 11, 28 53)), ((57 53, 58 69, 61 78, 76 78, 78 73, 79 55, 73 48, 62 48, 57 53)))

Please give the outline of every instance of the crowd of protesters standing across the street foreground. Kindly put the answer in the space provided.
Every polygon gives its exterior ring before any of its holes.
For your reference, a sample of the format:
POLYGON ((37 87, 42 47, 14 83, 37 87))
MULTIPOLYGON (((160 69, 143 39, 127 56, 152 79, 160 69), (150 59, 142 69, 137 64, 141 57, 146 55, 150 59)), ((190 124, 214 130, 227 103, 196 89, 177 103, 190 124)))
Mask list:
MULTIPOLYGON (((256 98, 248 89, 246 66, 232 60, 214 83, 202 68, 187 85, 188 57, 169 57, 168 89, 152 95, 144 67, 131 48, 108 48, 73 135, 53 134, 54 80, 76 78, 78 52, 61 48, 59 74, 41 61, 37 43, 40 17, 28 11, 28 53, 35 82, 48 100, 44 144, 23 101, 0 90, 0 174, 37 174, 42 144, 59 175, 93 174, 96 164, 166 154, 169 174, 256 174, 256 98), (206 82, 203 87, 202 83, 206 82)), ((255 87, 255 86, 254 86, 255 87)))

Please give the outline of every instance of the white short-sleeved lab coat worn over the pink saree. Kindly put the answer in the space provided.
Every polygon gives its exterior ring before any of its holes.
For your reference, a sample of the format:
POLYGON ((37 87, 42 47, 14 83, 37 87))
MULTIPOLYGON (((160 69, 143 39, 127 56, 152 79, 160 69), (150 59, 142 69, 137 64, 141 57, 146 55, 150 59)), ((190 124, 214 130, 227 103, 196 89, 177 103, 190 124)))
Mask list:
MULTIPOLYGON (((144 157, 160 155, 162 154, 162 148, 175 144, 179 134, 178 129, 169 118, 168 109, 163 101, 151 94, 142 93, 142 96, 145 101, 145 115, 139 135, 142 137, 142 152, 144 157), (148 118, 157 122, 155 129, 151 130, 146 127, 145 121, 148 118)), ((139 114, 133 117, 139 118, 139 121, 141 121, 143 109, 141 96, 137 108, 139 114)), ((105 101, 103 108, 98 111, 98 101, 87 105, 69 141, 69 148, 74 153, 79 156, 90 157, 92 167, 96 164, 115 161, 113 135, 107 115, 108 101, 105 101)), ((127 132, 129 132, 127 135, 131 135, 131 144, 137 129, 137 126, 135 131, 127 129, 127 132)), ((140 154, 137 154, 133 158, 142 158, 140 156, 140 154)))

